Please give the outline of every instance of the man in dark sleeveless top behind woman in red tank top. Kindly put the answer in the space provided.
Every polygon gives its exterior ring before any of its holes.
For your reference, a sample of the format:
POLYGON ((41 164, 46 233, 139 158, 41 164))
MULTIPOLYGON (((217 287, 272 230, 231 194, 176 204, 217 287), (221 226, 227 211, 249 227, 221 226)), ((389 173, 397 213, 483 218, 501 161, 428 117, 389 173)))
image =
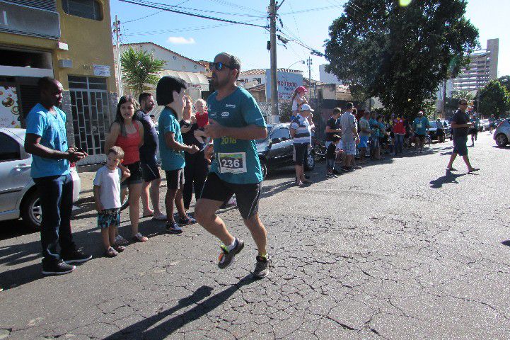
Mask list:
POLYGON ((153 216, 153 220, 164 221, 166 215, 163 215, 159 208, 159 188, 161 186, 161 175, 159 174, 156 151, 158 149, 158 132, 156 124, 153 122, 149 112, 154 107, 154 98, 152 94, 144 92, 138 97, 140 110, 134 115, 134 120, 138 120, 144 127, 144 145, 139 149, 141 176, 144 182, 141 186, 141 205, 143 217, 153 216), (149 207, 149 196, 152 202, 152 208, 149 207))

